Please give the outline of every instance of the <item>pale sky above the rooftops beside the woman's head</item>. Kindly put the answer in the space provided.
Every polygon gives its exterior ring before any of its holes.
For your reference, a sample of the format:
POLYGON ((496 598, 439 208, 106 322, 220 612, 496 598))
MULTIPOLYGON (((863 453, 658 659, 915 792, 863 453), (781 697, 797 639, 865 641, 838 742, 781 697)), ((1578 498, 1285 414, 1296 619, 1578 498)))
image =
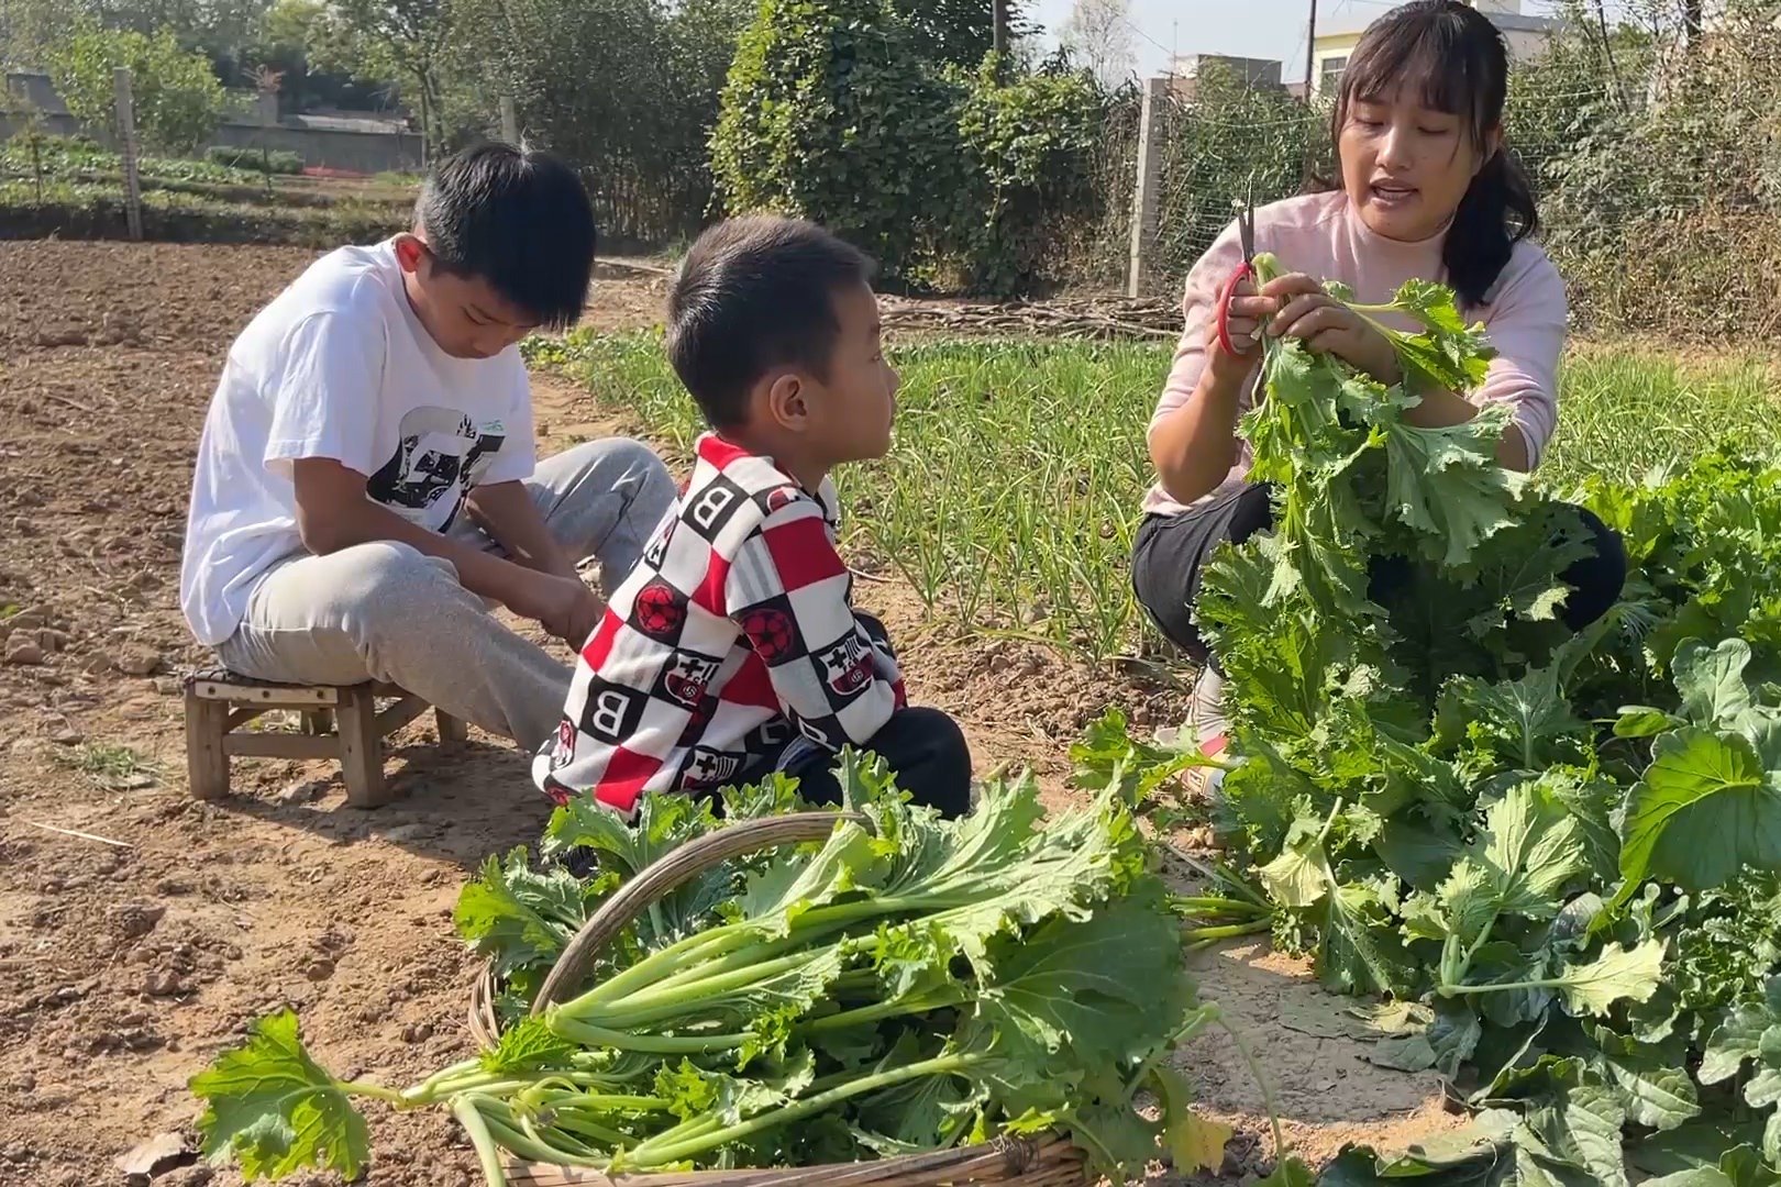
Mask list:
MULTIPOLYGON (((1311 0, 1129 0, 1131 44, 1138 75, 1163 73, 1170 50, 1181 53, 1234 53, 1279 59, 1288 82, 1305 77, 1305 18, 1311 0)), ((1074 0, 1033 0, 1029 12, 1049 36, 1070 14, 1074 0)), ((1316 0, 1318 28, 1362 28, 1395 0, 1316 0)), ((1612 7, 1612 5, 1610 5, 1612 7)), ((1539 0, 1523 0, 1528 14, 1548 12, 1539 0)))

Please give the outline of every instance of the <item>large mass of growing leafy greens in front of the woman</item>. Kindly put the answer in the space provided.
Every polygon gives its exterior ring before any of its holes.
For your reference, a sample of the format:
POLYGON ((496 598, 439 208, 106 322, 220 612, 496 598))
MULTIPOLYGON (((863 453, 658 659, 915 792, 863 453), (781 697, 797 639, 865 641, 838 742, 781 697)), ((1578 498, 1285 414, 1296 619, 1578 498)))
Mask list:
MULTIPOLYGON (((1322 1182, 1777 1183, 1781 468, 1587 482, 1631 575, 1573 635, 1587 534, 1496 464, 1505 413, 1403 420, 1418 384, 1478 379, 1484 333, 1434 285, 1387 310, 1419 326, 1393 335, 1409 390, 1270 340, 1240 432, 1275 529, 1224 546, 1197 607, 1232 715, 1208 812, 1277 943, 1416 1002, 1391 1055, 1476 1110, 1322 1182)), ((1151 790, 1209 762, 1120 724, 1078 763, 1151 790)))

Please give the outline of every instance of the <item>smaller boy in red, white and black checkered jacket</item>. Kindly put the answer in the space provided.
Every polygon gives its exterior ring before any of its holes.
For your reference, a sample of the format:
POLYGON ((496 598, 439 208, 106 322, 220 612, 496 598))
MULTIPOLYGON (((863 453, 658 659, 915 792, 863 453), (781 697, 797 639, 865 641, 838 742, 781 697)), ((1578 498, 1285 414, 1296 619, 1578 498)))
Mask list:
POLYGON ((778 769, 807 801, 835 803, 834 756, 853 746, 919 803, 969 810, 964 733, 908 707, 835 550, 830 470, 883 456, 896 413, 869 279, 864 254, 794 219, 734 219, 687 253, 668 356, 711 431, 533 762, 552 799, 591 794, 630 815, 648 792, 712 794, 778 769))

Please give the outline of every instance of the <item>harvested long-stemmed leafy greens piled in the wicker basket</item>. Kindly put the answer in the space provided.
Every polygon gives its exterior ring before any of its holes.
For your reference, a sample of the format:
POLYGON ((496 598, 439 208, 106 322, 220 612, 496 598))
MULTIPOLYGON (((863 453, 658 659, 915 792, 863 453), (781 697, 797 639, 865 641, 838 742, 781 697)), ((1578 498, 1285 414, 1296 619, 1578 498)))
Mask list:
MULTIPOLYGON (((344 1082, 297 1020, 258 1020, 192 1078, 205 1151, 248 1178, 358 1175, 354 1100, 445 1107, 490 1183, 520 1159, 602 1171, 805 1166, 1067 1134, 1117 1178, 1213 1126, 1172 1050, 1215 1018, 1183 970, 1174 902, 1115 769, 1044 820, 1029 776, 946 822, 882 763, 844 751, 869 826, 736 860, 654 904, 572 997, 531 1013, 565 945, 611 893, 720 826, 709 803, 647 799, 636 826, 554 813, 536 856, 490 858, 456 925, 493 963, 500 1041, 406 1089, 344 1082), (1159 1116, 1149 1119, 1151 1100, 1159 1116)), ((725 819, 796 810, 793 781, 741 788, 725 819)))

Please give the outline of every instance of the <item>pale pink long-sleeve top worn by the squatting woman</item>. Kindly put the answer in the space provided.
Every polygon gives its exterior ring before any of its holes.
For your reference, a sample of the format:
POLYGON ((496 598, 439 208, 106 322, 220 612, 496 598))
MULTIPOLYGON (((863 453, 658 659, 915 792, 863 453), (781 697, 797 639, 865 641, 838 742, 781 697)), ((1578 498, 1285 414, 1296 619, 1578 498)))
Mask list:
MULTIPOLYGON (((1257 253, 1273 253, 1288 272, 1343 281, 1364 304, 1391 301, 1407 279, 1444 281, 1441 244, 1443 237, 1407 244, 1375 235, 1339 190, 1289 198, 1256 212, 1257 253)), ((1241 260, 1236 224, 1231 224, 1188 272, 1183 297, 1184 329, 1168 370, 1168 383, 1151 416, 1151 431, 1191 399, 1206 367, 1208 327, 1215 317, 1218 290, 1241 260)), ((1501 402, 1514 408, 1514 424, 1526 438, 1532 468, 1546 452, 1546 441, 1558 420, 1558 356, 1564 351, 1569 313, 1564 281, 1544 251, 1521 240, 1487 295, 1484 306, 1462 308, 1460 313, 1468 320, 1484 322, 1498 356, 1491 361, 1484 384, 1460 395, 1478 406, 1501 402)), ((1393 324, 1412 329, 1412 324, 1402 319, 1393 324)), ((1254 379, 1243 388, 1241 409, 1247 411, 1252 400, 1254 379)), ((1248 441, 1240 438, 1236 464, 1216 489, 1197 502, 1240 486, 1248 466, 1248 441)), ((1181 514, 1188 505, 1177 502, 1158 482, 1145 495, 1143 509, 1154 514, 1181 514)))

